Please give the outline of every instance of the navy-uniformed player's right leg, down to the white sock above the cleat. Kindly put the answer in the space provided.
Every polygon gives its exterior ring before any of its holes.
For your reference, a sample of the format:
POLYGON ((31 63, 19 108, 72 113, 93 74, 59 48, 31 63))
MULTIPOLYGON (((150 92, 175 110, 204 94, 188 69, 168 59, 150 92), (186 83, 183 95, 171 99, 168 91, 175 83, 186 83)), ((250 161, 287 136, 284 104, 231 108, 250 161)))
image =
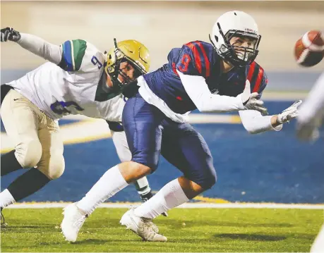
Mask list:
POLYGON ((184 176, 167 183, 148 202, 138 206, 133 214, 128 211, 124 216, 128 213, 128 216, 155 218, 215 184, 216 173, 208 145, 191 125, 181 124, 179 131, 164 127, 162 155, 183 171, 184 176))

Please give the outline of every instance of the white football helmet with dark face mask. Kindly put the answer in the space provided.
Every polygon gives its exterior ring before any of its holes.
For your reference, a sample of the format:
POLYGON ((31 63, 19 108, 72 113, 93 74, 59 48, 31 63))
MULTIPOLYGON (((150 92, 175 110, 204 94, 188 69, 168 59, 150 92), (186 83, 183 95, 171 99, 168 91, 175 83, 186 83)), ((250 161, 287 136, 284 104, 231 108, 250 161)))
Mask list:
POLYGON ((217 54, 233 66, 251 64, 258 55, 260 39, 256 21, 243 11, 224 13, 217 19, 210 35, 217 54), (248 37, 253 43, 251 47, 238 47, 229 43, 232 37, 248 37))

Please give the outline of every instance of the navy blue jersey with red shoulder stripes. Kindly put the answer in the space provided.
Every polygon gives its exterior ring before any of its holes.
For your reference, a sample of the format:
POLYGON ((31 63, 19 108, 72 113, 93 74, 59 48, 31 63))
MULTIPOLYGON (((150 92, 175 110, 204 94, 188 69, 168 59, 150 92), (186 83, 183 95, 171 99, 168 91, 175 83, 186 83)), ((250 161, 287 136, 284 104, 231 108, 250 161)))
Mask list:
POLYGON ((206 42, 189 42, 183 47, 174 48, 167 56, 168 63, 151 73, 143 75, 148 86, 157 97, 176 113, 186 113, 197 109, 184 90, 178 73, 200 75, 205 78, 210 92, 236 97, 243 92, 246 79, 251 82, 251 92, 262 95, 268 78, 263 68, 253 62, 250 66, 234 68, 228 73, 221 73, 221 57, 206 42))

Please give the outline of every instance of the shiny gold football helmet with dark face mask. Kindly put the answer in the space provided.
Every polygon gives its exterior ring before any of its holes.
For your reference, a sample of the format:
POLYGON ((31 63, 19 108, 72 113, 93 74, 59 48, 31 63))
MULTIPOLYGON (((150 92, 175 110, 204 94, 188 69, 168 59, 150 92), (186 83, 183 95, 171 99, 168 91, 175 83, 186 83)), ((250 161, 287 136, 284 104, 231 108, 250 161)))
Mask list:
POLYGON ((114 47, 108 51, 107 62, 104 70, 107 75, 112 78, 112 83, 114 88, 119 87, 122 89, 125 85, 130 84, 140 75, 148 73, 150 68, 150 52, 148 48, 142 43, 134 40, 128 39, 121 42, 116 42, 114 39, 114 47), (120 68, 120 63, 123 61, 128 61, 131 63, 135 69, 133 78, 129 78, 120 68), (122 75, 124 82, 120 82, 118 76, 122 75))

